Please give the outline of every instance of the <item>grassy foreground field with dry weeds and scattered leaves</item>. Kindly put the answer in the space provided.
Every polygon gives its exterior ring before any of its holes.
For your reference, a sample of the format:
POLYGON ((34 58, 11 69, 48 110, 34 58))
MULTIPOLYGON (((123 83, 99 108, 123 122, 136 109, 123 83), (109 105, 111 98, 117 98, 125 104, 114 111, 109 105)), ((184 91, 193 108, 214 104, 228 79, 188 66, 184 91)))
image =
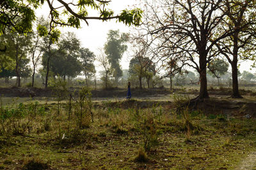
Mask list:
POLYGON ((254 118, 140 100, 45 103, 1 107, 1 169, 234 169, 256 151, 254 118))

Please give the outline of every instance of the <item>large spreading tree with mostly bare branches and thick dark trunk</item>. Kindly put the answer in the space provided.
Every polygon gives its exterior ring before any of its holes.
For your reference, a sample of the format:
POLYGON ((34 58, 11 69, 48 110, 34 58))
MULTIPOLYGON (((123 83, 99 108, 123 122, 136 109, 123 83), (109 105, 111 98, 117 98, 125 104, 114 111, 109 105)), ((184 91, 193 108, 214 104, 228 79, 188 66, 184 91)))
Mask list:
POLYGON ((182 63, 195 68, 200 74, 200 93, 195 101, 209 98, 206 68, 216 56, 212 47, 231 34, 229 31, 213 34, 226 15, 220 12, 221 5, 221 0, 161 0, 146 6, 143 25, 147 35, 152 36, 156 50, 173 49, 169 56, 179 55, 182 63))

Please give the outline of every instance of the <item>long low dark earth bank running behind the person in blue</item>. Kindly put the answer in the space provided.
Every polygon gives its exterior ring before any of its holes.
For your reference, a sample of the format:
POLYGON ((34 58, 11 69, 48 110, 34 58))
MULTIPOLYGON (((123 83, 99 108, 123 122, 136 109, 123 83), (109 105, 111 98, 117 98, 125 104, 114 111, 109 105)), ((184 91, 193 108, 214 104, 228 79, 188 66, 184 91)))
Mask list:
MULTIPOLYGON (((69 91, 72 91, 77 95, 77 92, 81 88, 69 88, 69 91)), ((159 97, 161 95, 170 95, 172 93, 179 93, 184 95, 198 95, 198 90, 196 89, 168 89, 168 88, 150 88, 150 89, 140 89, 132 88, 132 97, 143 98, 143 97, 159 97)), ((230 88, 221 88, 221 89, 209 89, 209 95, 211 96, 230 96, 232 90, 230 88)), ((256 93, 252 91, 240 90, 241 95, 250 95, 255 96, 256 93)), ((51 88, 0 88, 0 95, 4 97, 54 97, 51 88)), ((127 89, 123 88, 112 88, 112 89, 97 89, 92 90, 93 98, 124 98, 127 96, 127 89)))

